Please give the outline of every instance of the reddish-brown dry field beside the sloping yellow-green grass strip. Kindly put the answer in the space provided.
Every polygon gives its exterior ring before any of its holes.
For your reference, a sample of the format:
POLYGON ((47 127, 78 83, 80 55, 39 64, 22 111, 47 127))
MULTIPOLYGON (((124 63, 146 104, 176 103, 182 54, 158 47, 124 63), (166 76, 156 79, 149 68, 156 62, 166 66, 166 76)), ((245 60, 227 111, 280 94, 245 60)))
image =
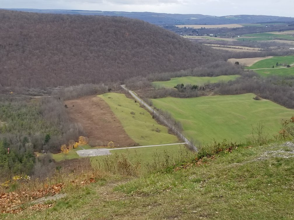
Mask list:
POLYGON ((65 101, 65 104, 71 121, 83 126, 91 146, 107 145, 109 141, 121 147, 137 145, 127 135, 109 105, 100 97, 86 96, 65 101))

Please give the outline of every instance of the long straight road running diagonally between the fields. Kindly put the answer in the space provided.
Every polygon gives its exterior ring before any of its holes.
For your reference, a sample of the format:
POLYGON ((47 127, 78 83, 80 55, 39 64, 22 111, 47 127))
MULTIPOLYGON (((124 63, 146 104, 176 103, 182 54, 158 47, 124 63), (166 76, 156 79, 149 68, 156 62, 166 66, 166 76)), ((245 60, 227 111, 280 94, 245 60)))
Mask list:
POLYGON ((154 115, 158 116, 159 119, 165 123, 169 128, 171 128, 173 131, 175 131, 178 136, 180 136, 183 141, 185 141, 186 144, 190 145, 191 148, 194 151, 198 151, 197 147, 195 145, 193 145, 185 136, 183 136, 182 133, 180 133, 174 126, 172 126, 170 123, 168 123, 160 114, 158 114, 157 111, 155 111, 154 109, 152 109, 148 104, 146 104, 146 102, 144 102, 142 99, 140 99, 134 92, 132 92, 131 90, 126 88, 126 85, 121 85, 121 87, 123 89, 125 89, 126 91, 128 91, 136 100, 138 100, 143 106, 145 106, 149 111, 151 111, 154 115))

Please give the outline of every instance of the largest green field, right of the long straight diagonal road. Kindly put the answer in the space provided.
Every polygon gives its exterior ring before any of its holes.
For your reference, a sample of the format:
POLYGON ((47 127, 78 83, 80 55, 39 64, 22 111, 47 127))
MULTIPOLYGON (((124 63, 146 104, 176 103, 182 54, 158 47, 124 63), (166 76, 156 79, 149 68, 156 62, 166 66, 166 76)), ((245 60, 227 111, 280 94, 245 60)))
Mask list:
POLYGON ((206 96, 189 99, 152 99, 154 106, 169 111, 183 125, 183 133, 197 144, 213 139, 245 141, 252 126, 263 119, 266 132, 277 134, 282 119, 289 119, 294 110, 272 101, 253 99, 255 94, 206 96))

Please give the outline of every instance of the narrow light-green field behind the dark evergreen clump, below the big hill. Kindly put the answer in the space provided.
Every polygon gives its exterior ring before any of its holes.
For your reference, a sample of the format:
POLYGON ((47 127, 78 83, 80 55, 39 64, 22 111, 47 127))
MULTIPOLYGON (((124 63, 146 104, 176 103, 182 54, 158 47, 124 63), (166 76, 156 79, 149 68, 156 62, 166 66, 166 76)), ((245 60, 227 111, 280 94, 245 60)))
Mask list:
POLYGON ((156 88, 165 87, 165 88, 173 88, 177 84, 196 84, 198 86, 204 85, 207 82, 215 83, 221 81, 229 81, 234 80, 239 75, 229 75, 229 76, 218 76, 218 77, 194 77, 194 76, 187 76, 187 77, 176 77, 171 78, 169 81, 161 81, 161 82, 153 82, 153 86, 156 88))

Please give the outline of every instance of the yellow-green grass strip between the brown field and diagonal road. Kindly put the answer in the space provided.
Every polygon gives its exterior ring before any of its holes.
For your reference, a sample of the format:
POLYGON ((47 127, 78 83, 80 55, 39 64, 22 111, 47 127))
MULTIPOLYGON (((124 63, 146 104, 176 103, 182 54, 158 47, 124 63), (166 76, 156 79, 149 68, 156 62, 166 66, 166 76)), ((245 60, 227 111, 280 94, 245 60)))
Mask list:
POLYGON ((178 138, 169 134, 165 126, 158 124, 147 110, 141 108, 138 102, 127 98, 125 94, 105 93, 98 97, 107 102, 126 133, 139 145, 178 142, 178 138))

